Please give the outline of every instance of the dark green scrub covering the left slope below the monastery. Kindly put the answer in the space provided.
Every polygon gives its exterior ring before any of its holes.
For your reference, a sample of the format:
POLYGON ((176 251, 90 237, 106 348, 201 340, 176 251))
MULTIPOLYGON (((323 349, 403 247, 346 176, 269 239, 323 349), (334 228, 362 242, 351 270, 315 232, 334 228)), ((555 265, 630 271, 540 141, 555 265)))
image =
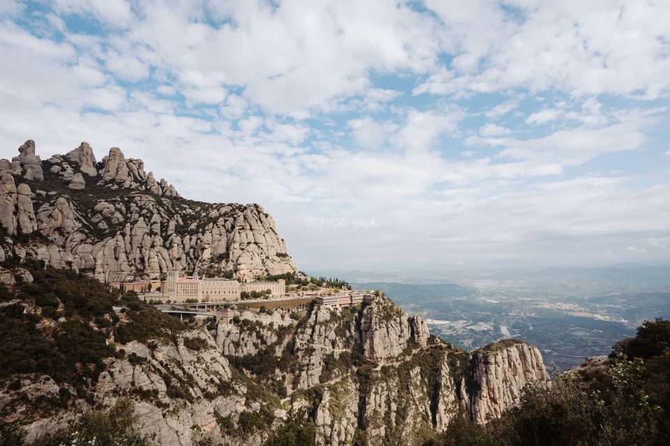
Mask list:
MULTIPOLYGON (((17 259, 2 263, 8 270, 18 265, 17 259)), ((72 270, 45 268, 42 261, 27 259, 20 267, 34 282, 19 280, 11 289, 0 286, 1 384, 11 380, 20 388, 17 377, 47 375, 92 403, 87 388, 105 370, 105 359, 123 354, 109 342, 112 334, 121 344, 150 338, 170 341, 185 328, 176 318, 140 302, 135 293, 121 295, 72 270)), ((67 407, 69 398, 63 392, 60 401, 50 402, 67 407)), ((11 405, 0 415, 7 410, 11 405)))

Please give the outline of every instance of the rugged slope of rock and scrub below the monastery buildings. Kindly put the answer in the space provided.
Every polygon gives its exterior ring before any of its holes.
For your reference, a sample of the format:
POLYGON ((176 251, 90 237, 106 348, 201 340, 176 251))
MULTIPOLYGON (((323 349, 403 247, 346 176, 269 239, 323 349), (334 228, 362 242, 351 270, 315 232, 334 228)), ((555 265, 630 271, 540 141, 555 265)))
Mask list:
POLYGON ((482 422, 548 380, 533 346, 468 354, 384 297, 288 325, 181 323, 80 272, 3 266, 16 282, 1 289, 0 416, 38 444, 128 397, 161 445, 277 444, 296 429, 310 444, 420 445, 459 408, 482 422))

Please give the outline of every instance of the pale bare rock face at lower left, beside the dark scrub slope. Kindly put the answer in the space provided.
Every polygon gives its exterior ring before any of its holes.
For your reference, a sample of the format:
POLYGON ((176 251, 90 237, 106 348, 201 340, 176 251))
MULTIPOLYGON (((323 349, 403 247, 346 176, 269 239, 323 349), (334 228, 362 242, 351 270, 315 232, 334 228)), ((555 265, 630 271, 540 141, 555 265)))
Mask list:
POLYGON ((191 445, 195 443, 195 433, 200 431, 208 433, 213 441, 223 442, 218 429, 212 429, 216 417, 243 412, 245 399, 237 394, 218 396, 218 389, 230 382, 231 371, 228 360, 207 332, 184 332, 176 345, 159 344, 153 351, 136 341, 126 344, 124 349, 127 357, 133 355, 140 360, 114 361, 98 378, 96 401, 111 405, 119 394, 141 389, 151 396, 142 398, 136 410, 140 420, 151 420, 146 423, 145 431, 156 434, 157 444, 191 445), (189 349, 184 346, 186 338, 200 339, 202 347, 197 351, 189 349), (175 405, 169 386, 181 387, 190 397, 175 405), (217 396, 203 399, 206 392, 217 396), (163 406, 177 410, 165 411, 163 406))

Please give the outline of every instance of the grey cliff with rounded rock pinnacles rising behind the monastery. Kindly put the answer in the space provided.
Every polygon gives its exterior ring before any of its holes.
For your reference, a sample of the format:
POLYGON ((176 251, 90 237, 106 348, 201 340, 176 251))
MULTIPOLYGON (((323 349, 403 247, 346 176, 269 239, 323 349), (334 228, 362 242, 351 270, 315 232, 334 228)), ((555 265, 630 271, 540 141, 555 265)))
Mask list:
POLYGON ((196 266, 248 279, 296 272, 263 208, 182 199, 116 147, 101 162, 85 142, 41 161, 26 141, 11 162, 0 160, 0 224, 29 239, 19 249, 4 240, 4 256, 31 253, 102 281, 196 266))

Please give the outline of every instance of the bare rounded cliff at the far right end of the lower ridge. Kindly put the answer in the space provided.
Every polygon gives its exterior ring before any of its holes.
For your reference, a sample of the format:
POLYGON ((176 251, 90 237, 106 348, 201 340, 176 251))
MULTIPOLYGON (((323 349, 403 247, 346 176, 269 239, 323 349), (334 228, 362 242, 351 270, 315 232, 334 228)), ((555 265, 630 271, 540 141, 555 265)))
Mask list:
MULTIPOLYGON (((472 353, 474 370, 466 408, 472 419, 484 423, 500 417, 502 412, 519 403, 526 385, 547 385, 542 354, 537 347, 521 341, 500 341, 472 353)), ((463 388, 466 383, 463 383, 463 388)))

